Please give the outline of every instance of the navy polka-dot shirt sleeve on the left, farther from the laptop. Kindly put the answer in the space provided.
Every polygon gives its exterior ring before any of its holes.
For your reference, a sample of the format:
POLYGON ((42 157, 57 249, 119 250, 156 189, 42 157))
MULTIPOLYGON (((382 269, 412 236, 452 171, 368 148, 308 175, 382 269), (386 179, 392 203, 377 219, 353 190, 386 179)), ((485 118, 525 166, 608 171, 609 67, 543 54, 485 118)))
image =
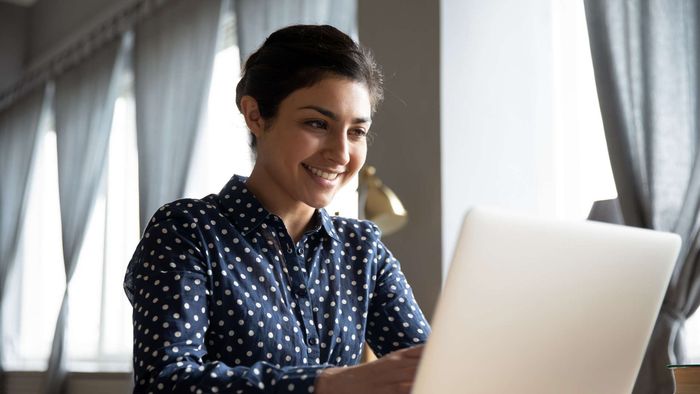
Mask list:
POLYGON ((125 278, 133 306, 134 393, 313 392, 326 366, 276 367, 260 361, 231 367, 210 356, 206 248, 191 219, 158 216, 125 278))

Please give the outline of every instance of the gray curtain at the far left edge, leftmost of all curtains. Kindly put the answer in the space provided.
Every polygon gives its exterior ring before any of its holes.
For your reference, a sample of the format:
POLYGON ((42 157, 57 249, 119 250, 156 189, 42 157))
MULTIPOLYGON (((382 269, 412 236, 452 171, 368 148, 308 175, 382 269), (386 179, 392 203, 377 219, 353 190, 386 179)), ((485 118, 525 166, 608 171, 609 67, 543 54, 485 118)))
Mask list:
MULTIPOLYGON (((0 316, 7 275, 15 263, 22 232, 39 119, 45 109, 44 96, 44 90, 39 89, 0 113, 0 316)), ((0 324, 0 384, 4 376, 2 338, 0 324)))

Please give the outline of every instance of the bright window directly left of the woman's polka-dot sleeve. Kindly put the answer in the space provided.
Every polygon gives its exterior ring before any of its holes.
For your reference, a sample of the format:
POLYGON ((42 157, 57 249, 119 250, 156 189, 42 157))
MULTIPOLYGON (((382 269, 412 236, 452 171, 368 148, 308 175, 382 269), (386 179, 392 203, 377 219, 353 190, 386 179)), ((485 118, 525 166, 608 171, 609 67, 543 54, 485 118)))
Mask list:
POLYGON ((124 80, 102 185, 71 281, 66 350, 73 371, 130 367, 131 305, 121 282, 139 241, 138 154, 131 78, 124 80))

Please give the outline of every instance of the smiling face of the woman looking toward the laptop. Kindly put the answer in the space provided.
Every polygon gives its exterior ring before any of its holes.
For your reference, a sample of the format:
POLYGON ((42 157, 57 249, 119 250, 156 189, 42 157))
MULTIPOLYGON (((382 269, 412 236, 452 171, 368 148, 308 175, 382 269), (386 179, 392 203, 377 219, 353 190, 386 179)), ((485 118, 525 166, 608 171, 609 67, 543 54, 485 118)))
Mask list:
POLYGON ((328 77, 298 89, 278 107, 257 138, 254 175, 265 199, 277 206, 328 205, 367 156, 371 123, 365 84, 328 77), (257 171, 257 174, 256 174, 257 171))

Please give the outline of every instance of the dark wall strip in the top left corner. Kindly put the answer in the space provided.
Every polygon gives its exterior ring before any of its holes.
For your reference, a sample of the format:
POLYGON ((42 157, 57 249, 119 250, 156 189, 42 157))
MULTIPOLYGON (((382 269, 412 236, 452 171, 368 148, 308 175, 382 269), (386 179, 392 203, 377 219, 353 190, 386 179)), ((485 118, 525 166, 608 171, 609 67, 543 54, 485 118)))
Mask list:
POLYGON ((25 61, 28 9, 0 3, 0 92, 22 76, 25 61))

